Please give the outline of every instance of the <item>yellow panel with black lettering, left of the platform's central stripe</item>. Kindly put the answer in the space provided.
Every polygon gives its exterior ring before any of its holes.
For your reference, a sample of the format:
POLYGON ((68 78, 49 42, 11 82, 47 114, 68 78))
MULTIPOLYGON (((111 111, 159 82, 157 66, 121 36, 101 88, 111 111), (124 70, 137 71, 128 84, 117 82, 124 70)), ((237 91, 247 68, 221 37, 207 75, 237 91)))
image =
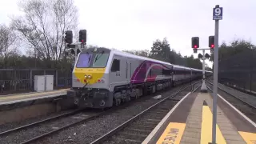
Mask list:
POLYGON ((166 130, 162 133, 161 137, 158 139, 157 144, 162 143, 180 143, 182 139, 182 134, 185 130, 186 123, 176 123, 170 122, 166 127, 166 130))

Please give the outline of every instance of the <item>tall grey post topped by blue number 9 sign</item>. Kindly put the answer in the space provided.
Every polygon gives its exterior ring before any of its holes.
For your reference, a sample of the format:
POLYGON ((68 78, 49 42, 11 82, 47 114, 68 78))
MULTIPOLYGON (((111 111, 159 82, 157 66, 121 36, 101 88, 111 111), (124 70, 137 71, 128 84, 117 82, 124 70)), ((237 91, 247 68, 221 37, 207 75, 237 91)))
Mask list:
POLYGON ((217 94, 218 94, 218 21, 222 20, 222 7, 216 5, 213 11, 213 20, 215 20, 214 35, 214 98, 213 98, 213 126, 212 126, 212 144, 216 144, 216 121, 217 121, 217 94))

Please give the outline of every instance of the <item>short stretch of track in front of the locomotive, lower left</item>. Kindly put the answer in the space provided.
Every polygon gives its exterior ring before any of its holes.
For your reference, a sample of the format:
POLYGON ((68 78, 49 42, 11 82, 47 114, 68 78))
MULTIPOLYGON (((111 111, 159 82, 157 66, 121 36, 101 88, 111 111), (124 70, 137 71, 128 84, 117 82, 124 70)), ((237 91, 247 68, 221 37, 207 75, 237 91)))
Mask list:
POLYGON ((19 126, 17 128, 6 130, 0 134, 0 138, 8 137, 6 134, 16 134, 17 138, 22 137, 22 142, 17 142, 14 139, 14 143, 30 143, 44 138, 47 135, 57 133, 60 130, 64 130, 67 127, 74 126, 80 122, 90 121, 100 116, 103 112, 83 112, 82 110, 74 110, 67 114, 61 114, 53 118, 47 118, 42 121, 34 122, 25 126, 19 126), (22 134, 20 133, 22 131, 22 134), (25 132, 24 132, 25 131, 25 132))

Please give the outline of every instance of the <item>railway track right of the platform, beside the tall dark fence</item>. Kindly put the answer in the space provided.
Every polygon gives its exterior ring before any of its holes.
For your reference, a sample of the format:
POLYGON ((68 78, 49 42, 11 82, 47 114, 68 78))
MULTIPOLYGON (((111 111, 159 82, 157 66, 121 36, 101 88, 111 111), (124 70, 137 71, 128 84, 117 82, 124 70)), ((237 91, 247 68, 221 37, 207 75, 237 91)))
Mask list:
MULTIPOLYGON (((210 91, 212 90, 213 84, 208 82, 210 86, 207 88, 210 91)), ((250 102, 246 101, 246 98, 241 98, 237 95, 230 94, 227 90, 218 87, 218 94, 221 94, 226 101, 230 102, 234 107, 240 110, 243 114, 245 114, 251 121, 256 122, 256 107, 252 105, 250 102)), ((248 95, 249 96, 249 95, 248 95)))

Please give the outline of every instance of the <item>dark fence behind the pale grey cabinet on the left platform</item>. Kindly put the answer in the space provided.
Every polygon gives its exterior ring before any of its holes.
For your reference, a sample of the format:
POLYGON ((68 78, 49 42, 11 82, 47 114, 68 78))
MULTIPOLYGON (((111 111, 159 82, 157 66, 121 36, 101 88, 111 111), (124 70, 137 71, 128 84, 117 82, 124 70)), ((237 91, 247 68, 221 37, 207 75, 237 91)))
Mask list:
POLYGON ((34 90, 34 75, 54 75, 55 90, 70 87, 72 84, 70 70, 0 69, 0 86, 4 84, 2 93, 34 90))

